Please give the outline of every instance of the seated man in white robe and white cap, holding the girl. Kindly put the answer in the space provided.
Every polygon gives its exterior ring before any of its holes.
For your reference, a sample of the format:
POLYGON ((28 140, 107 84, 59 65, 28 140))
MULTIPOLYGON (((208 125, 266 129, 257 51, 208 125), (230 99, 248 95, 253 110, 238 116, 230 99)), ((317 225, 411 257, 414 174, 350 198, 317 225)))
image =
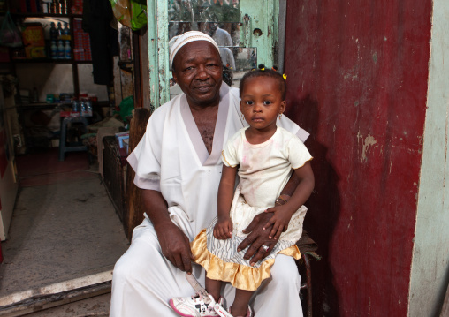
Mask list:
MULTIPOLYGON (((134 183, 144 189, 146 215, 114 268, 111 317, 177 316, 169 299, 194 293, 186 271, 204 283, 204 269, 190 263, 188 243, 217 215, 221 151, 225 141, 247 125, 240 113, 239 90, 218 78, 222 66, 217 44, 206 36, 183 34, 171 48, 173 76, 184 93, 156 109, 128 157, 136 172, 134 183)), ((308 137, 286 117, 278 125, 303 141, 308 137)), ((266 231, 268 237, 270 230, 266 231)), ((270 248, 276 244, 265 239, 270 248)), ((263 254, 258 241, 252 241, 251 247, 263 254)), ((251 303, 255 315, 302 316, 300 281, 293 258, 278 255, 270 279, 251 303)), ((225 286, 223 295, 232 303, 231 285, 225 286)))

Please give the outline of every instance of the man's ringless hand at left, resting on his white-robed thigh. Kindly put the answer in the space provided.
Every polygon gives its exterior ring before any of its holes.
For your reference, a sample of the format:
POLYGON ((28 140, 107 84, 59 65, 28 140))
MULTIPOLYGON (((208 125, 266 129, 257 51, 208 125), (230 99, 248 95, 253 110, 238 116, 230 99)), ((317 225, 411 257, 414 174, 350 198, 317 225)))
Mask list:
POLYGON ((167 222, 160 230, 156 230, 159 244, 165 258, 181 271, 192 273, 194 255, 190 251, 187 236, 174 223, 167 222))

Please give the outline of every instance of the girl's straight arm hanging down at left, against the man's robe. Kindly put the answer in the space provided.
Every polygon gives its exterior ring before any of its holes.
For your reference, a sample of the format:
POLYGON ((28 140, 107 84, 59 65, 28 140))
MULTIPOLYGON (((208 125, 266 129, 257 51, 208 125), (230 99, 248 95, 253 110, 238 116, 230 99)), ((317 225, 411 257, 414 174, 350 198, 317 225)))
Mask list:
POLYGON ((230 212, 236 175, 237 167, 229 167, 223 164, 220 185, 218 187, 218 215, 217 224, 214 228, 215 238, 226 239, 232 237, 230 212))

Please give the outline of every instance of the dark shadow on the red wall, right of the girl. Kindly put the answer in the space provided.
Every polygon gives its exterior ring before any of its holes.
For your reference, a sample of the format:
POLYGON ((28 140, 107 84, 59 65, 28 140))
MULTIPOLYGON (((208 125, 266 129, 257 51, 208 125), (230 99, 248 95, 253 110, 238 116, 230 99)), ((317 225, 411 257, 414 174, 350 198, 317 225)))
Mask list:
POLYGON ((333 285, 329 261, 331 252, 339 252, 329 249, 339 217, 340 198, 337 187, 339 176, 327 158, 328 148, 316 138, 319 124, 318 102, 310 96, 292 100, 285 114, 310 133, 305 144, 314 157, 311 164, 315 174, 315 190, 306 203, 308 213, 304 229, 318 244, 317 253, 323 259, 311 264, 313 313, 314 316, 339 316, 339 298, 333 285))

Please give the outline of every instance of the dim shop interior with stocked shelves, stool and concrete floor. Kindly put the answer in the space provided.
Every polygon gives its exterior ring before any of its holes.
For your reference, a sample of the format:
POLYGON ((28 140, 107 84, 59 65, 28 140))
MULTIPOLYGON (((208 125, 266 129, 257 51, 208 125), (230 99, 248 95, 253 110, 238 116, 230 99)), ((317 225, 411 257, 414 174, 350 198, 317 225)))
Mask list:
POLYGON ((107 1, 1 3, 0 307, 22 315, 110 292, 148 35, 107 1))

